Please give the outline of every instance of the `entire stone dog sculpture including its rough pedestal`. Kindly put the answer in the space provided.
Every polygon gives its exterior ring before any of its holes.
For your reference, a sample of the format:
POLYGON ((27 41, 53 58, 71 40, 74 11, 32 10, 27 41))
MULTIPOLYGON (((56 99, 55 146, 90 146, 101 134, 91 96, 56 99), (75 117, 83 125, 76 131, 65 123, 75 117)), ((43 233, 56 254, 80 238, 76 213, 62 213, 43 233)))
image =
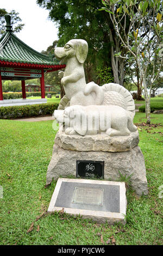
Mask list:
MULTIPOLYGON (((133 97, 120 84, 86 83, 83 64, 87 51, 87 42, 80 39, 70 40, 54 50, 55 57, 66 64, 65 72, 59 72, 66 95, 53 114, 60 127, 46 185, 60 176, 78 175, 77 160, 103 161, 104 179, 117 181, 120 175, 130 177, 136 194, 146 195, 145 160, 138 147, 139 132, 133 124, 133 97)), ((58 130, 55 121, 53 129, 58 130)))

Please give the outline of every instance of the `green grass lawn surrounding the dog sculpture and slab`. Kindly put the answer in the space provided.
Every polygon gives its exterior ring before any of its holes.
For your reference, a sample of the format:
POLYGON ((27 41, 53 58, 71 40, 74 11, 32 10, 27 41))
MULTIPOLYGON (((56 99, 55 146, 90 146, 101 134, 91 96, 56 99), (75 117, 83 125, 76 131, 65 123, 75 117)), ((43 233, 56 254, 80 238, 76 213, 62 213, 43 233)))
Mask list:
MULTIPOLYGON (((151 117, 153 124, 163 124, 163 114, 151 117)), ((143 123, 144 118, 145 113, 136 113, 134 123, 143 123)), ((109 227, 58 212, 46 214, 55 186, 53 182, 45 187, 55 137, 52 121, 0 120, 0 126, 1 245, 106 245, 109 239, 109 244, 115 239, 116 245, 162 245, 159 186, 163 185, 163 126, 139 125, 149 196, 137 198, 127 190, 124 227, 109 227)))

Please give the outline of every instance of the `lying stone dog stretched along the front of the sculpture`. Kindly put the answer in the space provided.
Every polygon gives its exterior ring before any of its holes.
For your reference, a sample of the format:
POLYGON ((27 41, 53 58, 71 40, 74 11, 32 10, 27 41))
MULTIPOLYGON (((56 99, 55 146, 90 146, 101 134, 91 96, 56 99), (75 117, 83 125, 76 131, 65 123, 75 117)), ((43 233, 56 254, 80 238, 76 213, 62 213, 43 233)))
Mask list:
POLYGON ((55 110, 54 117, 65 125, 67 135, 96 135, 105 132, 108 136, 127 136, 137 130, 130 114, 124 108, 110 106, 70 106, 55 110))

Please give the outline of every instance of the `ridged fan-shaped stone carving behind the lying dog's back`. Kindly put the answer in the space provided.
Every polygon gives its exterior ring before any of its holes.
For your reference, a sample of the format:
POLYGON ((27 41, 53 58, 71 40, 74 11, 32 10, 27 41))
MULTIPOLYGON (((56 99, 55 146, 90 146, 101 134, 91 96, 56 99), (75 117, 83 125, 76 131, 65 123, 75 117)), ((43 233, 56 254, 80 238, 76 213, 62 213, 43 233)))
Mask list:
POLYGON ((126 109, 131 120, 135 115, 135 102, 133 96, 123 86, 117 83, 106 83, 102 86, 104 100, 102 105, 117 105, 126 109))

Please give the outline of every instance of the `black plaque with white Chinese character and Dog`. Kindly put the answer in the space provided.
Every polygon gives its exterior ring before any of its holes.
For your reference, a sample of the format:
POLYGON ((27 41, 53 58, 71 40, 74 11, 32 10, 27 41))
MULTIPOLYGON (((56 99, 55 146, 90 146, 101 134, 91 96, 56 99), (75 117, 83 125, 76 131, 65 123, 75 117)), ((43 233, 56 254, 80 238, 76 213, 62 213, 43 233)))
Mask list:
POLYGON ((77 160, 77 177, 104 179, 104 161, 77 160))

